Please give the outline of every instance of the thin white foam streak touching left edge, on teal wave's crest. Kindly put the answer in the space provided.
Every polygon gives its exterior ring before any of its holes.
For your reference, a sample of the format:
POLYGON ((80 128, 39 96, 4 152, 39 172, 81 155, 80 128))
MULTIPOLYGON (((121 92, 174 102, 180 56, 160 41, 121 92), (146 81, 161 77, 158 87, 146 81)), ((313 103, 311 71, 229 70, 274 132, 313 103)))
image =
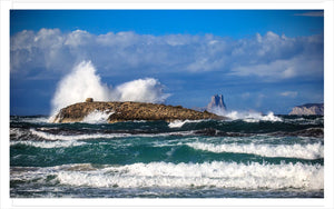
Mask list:
POLYGON ((10 146, 16 146, 16 145, 26 145, 26 146, 31 146, 31 147, 37 147, 37 148, 67 148, 67 147, 77 147, 77 146, 82 146, 86 145, 84 141, 76 141, 76 140, 70 140, 70 141, 10 141, 10 146))

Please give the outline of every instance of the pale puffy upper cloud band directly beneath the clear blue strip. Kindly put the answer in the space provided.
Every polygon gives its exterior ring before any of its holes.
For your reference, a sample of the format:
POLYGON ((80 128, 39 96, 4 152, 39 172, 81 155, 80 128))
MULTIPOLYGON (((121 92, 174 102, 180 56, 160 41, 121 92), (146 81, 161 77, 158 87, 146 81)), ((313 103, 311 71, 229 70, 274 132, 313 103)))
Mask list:
POLYGON ((272 31, 232 39, 205 34, 92 34, 59 29, 21 31, 11 37, 11 73, 30 79, 66 74, 91 60, 101 76, 150 72, 222 72, 267 82, 323 77, 323 34, 288 38, 272 31))

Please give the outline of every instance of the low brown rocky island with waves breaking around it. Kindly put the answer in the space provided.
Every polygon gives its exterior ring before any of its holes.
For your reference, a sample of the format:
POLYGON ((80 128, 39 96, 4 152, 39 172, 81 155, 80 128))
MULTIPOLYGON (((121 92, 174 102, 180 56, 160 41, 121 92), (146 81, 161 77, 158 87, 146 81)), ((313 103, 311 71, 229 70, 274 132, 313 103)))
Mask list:
POLYGON ((88 98, 86 102, 79 102, 62 108, 53 119, 53 122, 80 122, 94 111, 109 113, 109 123, 132 120, 222 120, 226 117, 217 116, 208 111, 196 111, 181 106, 166 106, 159 103, 145 103, 134 101, 94 101, 88 98))

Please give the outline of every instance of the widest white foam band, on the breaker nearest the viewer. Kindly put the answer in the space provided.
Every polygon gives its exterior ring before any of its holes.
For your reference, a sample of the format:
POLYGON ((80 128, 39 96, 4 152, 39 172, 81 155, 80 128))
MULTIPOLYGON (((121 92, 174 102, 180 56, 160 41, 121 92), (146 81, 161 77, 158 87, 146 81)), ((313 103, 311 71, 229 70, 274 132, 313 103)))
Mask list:
MULTIPOLYGON (((75 165, 77 166, 77 165, 75 165)), ((297 162, 249 165, 236 162, 167 163, 150 162, 99 170, 57 171, 62 185, 119 188, 237 188, 237 189, 303 189, 324 188, 324 167, 297 162)))

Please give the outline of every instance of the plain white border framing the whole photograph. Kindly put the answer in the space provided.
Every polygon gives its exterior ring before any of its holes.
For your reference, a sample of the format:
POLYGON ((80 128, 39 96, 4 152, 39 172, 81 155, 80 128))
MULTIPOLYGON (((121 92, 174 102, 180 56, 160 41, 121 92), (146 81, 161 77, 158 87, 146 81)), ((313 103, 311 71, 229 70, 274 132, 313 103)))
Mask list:
MULTIPOLYGON (((248 208, 248 207, 275 207, 275 208, 333 208, 334 207, 334 192, 333 192, 333 119, 334 119, 334 73, 333 73, 333 58, 334 58, 334 43, 333 43, 333 26, 334 26, 334 1, 320 1, 320 0, 292 0, 282 1, 257 1, 249 2, 247 0, 228 0, 223 1, 187 1, 180 0, 168 3, 166 0, 155 1, 101 1, 101 0, 85 0, 85 1, 56 1, 56 0, 0 0, 1 11, 1 187, 0 187, 0 202, 1 208, 135 208, 135 207, 164 207, 164 208, 248 208), (291 10, 291 9, 321 9, 324 10, 324 96, 325 96, 325 197, 321 199, 21 199, 9 197, 9 76, 10 76, 10 49, 9 49, 9 28, 10 20, 9 13, 11 9, 274 9, 274 10, 291 10)), ((169 1, 170 2, 170 1, 169 1)))

